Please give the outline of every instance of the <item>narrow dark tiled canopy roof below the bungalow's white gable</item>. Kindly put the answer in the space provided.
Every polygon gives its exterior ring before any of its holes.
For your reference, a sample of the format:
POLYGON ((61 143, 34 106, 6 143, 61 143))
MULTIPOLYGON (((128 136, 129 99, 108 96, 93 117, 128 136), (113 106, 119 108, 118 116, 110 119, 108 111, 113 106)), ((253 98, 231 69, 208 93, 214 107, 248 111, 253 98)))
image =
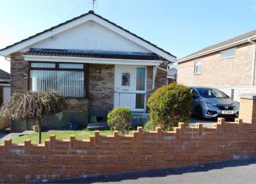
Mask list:
POLYGON ((72 49, 46 49, 30 48, 24 55, 32 56, 72 56, 84 58, 121 58, 137 60, 159 60, 160 57, 155 53, 141 52, 113 52, 113 51, 83 51, 72 49))

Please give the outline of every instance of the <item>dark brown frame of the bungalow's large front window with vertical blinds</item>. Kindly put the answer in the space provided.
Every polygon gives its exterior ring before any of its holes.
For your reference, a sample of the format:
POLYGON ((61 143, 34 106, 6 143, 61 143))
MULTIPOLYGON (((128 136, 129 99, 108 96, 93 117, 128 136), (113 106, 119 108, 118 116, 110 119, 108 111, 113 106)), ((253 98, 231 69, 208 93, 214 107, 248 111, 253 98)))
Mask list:
POLYGON ((83 97, 65 97, 69 99, 88 99, 88 71, 89 65, 88 63, 74 63, 74 62, 48 62, 48 61, 28 61, 28 74, 27 74, 27 90, 30 89, 30 71, 33 70, 45 70, 45 71, 83 71, 84 72, 84 95, 83 97), (32 67, 31 63, 55 63, 55 68, 44 68, 44 67, 32 67), (59 63, 67 63, 67 64, 82 64, 83 69, 64 69, 59 68, 59 63))

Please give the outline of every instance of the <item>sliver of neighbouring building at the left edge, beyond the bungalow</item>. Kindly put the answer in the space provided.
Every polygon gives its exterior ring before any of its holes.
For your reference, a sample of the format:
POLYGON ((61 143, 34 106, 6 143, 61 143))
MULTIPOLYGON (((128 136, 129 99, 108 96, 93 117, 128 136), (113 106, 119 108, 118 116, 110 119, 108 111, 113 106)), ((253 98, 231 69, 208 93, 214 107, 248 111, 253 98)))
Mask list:
POLYGON ((0 69, 0 105, 11 97, 10 74, 0 69))

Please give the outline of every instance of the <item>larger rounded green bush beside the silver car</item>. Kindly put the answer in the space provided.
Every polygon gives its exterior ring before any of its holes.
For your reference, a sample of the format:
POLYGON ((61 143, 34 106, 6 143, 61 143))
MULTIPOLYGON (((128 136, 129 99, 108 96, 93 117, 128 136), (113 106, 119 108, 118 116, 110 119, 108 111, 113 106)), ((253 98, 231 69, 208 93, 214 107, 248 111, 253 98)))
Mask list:
POLYGON ((153 126, 172 130, 179 122, 189 123, 192 95, 189 87, 176 82, 160 87, 148 99, 153 126))

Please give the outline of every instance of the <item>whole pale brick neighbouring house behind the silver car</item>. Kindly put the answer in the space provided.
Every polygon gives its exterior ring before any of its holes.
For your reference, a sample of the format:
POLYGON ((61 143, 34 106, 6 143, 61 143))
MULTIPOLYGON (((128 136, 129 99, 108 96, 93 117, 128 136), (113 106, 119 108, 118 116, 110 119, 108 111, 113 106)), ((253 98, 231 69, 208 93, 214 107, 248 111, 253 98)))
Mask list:
POLYGON ((256 92, 256 30, 211 45, 178 61, 178 83, 216 87, 239 101, 256 92))

